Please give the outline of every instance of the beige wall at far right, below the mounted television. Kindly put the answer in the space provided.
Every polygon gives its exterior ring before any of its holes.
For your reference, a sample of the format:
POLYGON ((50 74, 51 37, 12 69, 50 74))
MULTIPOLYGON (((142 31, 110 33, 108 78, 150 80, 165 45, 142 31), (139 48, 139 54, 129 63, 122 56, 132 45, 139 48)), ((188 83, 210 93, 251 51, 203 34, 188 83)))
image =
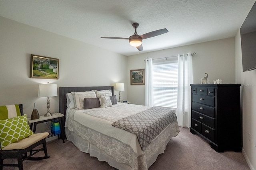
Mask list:
POLYGON ((243 153, 250 168, 254 170, 256 169, 256 70, 243 72, 240 31, 236 35, 236 82, 242 84, 240 91, 243 115, 243 153))

